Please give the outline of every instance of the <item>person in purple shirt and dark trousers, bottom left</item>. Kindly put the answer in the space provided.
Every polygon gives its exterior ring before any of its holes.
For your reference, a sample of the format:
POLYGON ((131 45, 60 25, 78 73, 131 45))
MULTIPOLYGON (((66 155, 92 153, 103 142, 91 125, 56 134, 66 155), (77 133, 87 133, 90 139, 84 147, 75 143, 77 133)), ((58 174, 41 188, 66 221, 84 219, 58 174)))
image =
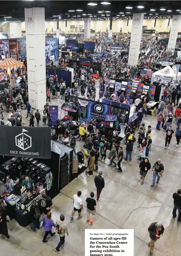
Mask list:
POLYGON ((52 233, 52 227, 56 227, 56 224, 52 220, 52 213, 51 213, 51 211, 49 211, 47 213, 47 215, 43 216, 43 221, 44 221, 43 227, 44 227, 44 230, 45 230, 45 235, 43 237, 42 243, 47 243, 48 242, 46 240, 47 235, 50 234, 51 237, 54 237, 55 234, 56 234, 55 232, 52 233))

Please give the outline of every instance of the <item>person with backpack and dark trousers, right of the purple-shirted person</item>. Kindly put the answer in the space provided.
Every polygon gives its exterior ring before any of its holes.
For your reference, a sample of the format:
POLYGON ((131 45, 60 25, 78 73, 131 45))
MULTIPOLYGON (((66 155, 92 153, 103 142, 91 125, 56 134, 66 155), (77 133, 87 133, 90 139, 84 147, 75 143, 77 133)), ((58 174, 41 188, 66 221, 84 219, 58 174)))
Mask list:
POLYGON ((56 252, 60 251, 60 246, 63 246, 65 243, 65 236, 68 233, 67 224, 64 222, 65 216, 63 214, 60 215, 60 219, 56 221, 56 232, 60 236, 60 242, 58 243, 57 247, 55 248, 56 252))

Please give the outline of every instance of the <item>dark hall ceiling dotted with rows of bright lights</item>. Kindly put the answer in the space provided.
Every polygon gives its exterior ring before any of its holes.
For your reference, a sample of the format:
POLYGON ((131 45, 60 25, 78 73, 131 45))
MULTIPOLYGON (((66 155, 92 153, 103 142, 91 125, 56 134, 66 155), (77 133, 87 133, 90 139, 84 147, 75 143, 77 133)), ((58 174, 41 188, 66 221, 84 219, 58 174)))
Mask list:
POLYGON ((45 7, 45 19, 83 19, 91 17, 92 19, 120 19, 132 18, 133 13, 144 12, 145 18, 170 18, 173 15, 181 14, 180 1, 85 1, 85 0, 4 0, 0 8, 0 21, 3 20, 24 20, 24 8, 45 7), (101 4, 108 2, 109 5, 101 4), (97 3, 97 5, 88 5, 88 3, 97 3), (138 8, 143 6, 144 8, 138 8), (126 7, 132 7, 127 9, 126 7), (150 10, 155 11, 150 11, 150 10), (160 10, 165 9, 165 10, 160 10), (83 11, 76 11, 83 10, 83 11), (177 11, 178 10, 178 11, 177 11), (73 11, 73 12, 71 12, 73 11), (102 11, 102 13, 98 13, 102 11), (110 12, 108 12, 110 11, 110 12), (85 14, 85 15, 83 15, 85 14), (92 15, 89 15, 92 14, 92 15), (7 18, 6 18, 7 17, 7 18), (9 18, 8 18, 9 17, 9 18), (11 18, 12 17, 12 18, 11 18))

